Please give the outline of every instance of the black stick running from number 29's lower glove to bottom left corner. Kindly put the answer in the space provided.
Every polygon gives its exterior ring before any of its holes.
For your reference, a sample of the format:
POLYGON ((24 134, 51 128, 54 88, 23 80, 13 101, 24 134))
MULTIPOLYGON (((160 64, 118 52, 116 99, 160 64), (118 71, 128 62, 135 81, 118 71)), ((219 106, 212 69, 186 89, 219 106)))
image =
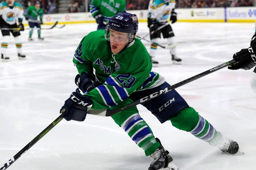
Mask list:
POLYGON ((45 134, 48 133, 56 124, 58 124, 65 117, 65 112, 62 113, 57 119, 55 119, 48 127, 46 127, 40 134, 38 134, 31 142, 29 142, 23 149, 21 149, 15 156, 11 157, 4 164, 4 166, 0 167, 0 170, 6 170, 12 163, 14 163, 22 154, 24 154, 27 150, 29 150, 33 145, 35 145, 41 138, 44 137, 45 134))

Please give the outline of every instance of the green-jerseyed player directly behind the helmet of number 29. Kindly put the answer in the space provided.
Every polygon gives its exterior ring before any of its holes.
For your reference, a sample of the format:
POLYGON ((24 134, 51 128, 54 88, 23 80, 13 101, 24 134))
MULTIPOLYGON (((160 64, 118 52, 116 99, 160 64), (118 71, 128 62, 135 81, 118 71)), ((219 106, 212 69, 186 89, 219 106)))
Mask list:
POLYGON ((90 3, 90 12, 98 24, 98 30, 105 29, 110 19, 125 9, 125 0, 91 0, 90 3))

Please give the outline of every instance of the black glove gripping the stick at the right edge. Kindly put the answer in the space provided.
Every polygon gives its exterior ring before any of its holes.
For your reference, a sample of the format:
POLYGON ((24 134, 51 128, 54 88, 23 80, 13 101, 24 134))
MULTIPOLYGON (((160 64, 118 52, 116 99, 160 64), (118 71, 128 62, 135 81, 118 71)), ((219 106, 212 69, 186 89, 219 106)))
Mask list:
POLYGON ((235 53, 233 58, 237 62, 227 67, 230 70, 237 70, 240 68, 243 70, 249 70, 256 65, 256 57, 253 53, 252 47, 242 49, 235 53))

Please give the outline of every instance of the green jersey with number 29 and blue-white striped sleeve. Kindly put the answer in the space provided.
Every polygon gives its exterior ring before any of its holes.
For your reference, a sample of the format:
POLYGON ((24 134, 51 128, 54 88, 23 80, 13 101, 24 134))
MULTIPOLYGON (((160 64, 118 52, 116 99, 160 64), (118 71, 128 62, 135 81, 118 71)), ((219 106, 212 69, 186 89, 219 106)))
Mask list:
POLYGON ((104 30, 86 35, 80 42, 73 63, 79 74, 93 72, 103 83, 88 92, 92 109, 106 109, 127 99, 132 92, 161 85, 165 80, 151 72, 152 62, 143 43, 135 38, 119 54, 111 52, 104 30))

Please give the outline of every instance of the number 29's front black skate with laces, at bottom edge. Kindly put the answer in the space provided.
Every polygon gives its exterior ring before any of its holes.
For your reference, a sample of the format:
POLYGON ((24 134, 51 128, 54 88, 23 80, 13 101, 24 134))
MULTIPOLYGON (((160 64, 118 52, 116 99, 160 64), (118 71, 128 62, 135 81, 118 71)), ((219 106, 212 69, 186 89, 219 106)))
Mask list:
MULTIPOLYGON (((152 162, 150 163, 150 167, 148 168, 148 170, 161 170, 163 168, 168 167, 169 163, 172 163, 172 156, 169 154, 167 150, 164 149, 158 138, 156 138, 156 141, 160 143, 160 146, 155 150, 154 153, 150 155, 152 162)), ((176 165, 174 165, 174 167, 171 170, 178 169, 179 168, 176 165)))

